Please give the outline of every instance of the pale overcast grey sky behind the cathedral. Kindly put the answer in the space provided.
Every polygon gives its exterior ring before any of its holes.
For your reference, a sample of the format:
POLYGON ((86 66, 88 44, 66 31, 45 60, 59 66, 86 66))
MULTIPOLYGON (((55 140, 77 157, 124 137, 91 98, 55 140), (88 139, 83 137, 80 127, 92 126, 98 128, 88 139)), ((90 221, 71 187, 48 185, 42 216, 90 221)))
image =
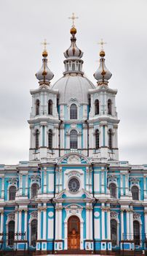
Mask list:
POLYGON ((147 164, 147 1, 1 0, 0 2, 0 164, 28 160, 30 89, 38 88, 41 42, 49 45, 52 84, 63 75, 70 45, 72 12, 84 73, 95 85, 101 38, 107 44, 108 86, 118 89, 119 159, 147 164))

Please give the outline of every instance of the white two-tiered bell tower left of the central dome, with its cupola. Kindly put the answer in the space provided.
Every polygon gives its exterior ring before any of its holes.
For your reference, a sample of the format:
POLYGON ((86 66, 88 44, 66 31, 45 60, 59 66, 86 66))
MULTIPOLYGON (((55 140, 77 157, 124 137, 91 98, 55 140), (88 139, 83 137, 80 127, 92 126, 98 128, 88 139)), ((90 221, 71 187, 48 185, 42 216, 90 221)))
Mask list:
POLYGON ((39 88, 31 90, 32 107, 30 120, 30 151, 29 160, 49 161, 57 157, 58 147, 58 113, 57 90, 50 88, 53 73, 47 66, 47 42, 44 42, 42 66, 36 73, 39 88))

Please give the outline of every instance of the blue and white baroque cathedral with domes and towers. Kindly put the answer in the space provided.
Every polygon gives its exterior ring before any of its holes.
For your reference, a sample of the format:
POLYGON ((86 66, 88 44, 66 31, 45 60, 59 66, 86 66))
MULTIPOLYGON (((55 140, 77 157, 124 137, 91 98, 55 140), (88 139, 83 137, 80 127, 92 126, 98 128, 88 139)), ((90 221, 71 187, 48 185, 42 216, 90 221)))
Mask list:
MULTIPOLYGON (((29 160, 0 165, 0 252, 111 255, 147 249, 147 165, 119 160, 116 89, 105 51, 84 76, 71 27, 63 77, 44 42, 31 90, 29 160)), ((31 254, 30 254, 31 255, 31 254)))

